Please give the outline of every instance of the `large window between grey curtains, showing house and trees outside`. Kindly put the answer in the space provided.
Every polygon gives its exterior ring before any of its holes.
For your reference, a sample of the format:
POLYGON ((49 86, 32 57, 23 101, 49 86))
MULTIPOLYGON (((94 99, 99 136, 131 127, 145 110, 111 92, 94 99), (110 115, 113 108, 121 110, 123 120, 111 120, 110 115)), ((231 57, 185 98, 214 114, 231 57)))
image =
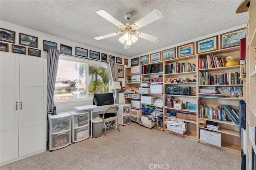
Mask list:
POLYGON ((92 98, 94 93, 109 92, 106 63, 74 60, 60 56, 54 101, 81 100, 92 98))

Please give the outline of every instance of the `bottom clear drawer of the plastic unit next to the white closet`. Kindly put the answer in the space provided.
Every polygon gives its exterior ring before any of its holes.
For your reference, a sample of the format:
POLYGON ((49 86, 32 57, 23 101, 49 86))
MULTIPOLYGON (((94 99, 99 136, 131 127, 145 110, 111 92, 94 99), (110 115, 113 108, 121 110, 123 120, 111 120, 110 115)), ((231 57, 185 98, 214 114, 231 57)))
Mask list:
POLYGON ((71 130, 58 134, 51 134, 48 140, 50 140, 49 150, 56 150, 68 146, 71 144, 71 130))

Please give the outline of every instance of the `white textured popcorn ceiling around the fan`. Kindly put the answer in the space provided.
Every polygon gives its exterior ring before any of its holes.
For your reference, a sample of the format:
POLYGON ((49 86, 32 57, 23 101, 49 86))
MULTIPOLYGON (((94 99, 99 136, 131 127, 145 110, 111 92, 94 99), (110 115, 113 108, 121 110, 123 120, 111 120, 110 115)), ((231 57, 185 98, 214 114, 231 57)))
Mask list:
POLYGON ((239 3, 240 0, 0 0, 0 19, 131 57, 246 24, 247 12, 235 14, 239 3), (163 18, 140 31, 161 38, 159 42, 139 38, 130 49, 123 49, 118 41, 120 35, 94 39, 119 31, 96 11, 104 9, 123 24, 133 24, 156 8, 163 18), (130 21, 124 18, 127 12, 133 15, 130 21))

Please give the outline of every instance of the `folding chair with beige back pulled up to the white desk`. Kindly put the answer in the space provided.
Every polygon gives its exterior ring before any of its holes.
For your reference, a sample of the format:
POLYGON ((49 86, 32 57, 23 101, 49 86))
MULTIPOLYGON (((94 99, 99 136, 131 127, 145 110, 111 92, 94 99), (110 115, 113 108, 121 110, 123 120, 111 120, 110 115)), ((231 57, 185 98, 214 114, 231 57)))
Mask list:
POLYGON ((102 115, 103 122, 104 122, 105 136, 107 136, 106 128, 113 127, 115 129, 118 129, 118 132, 120 132, 118 118, 117 118, 117 111, 118 111, 118 106, 108 107, 105 110, 105 113, 102 115), (106 127, 106 122, 112 122, 112 121, 114 121, 115 124, 112 125, 112 123, 111 123, 111 126, 106 127))

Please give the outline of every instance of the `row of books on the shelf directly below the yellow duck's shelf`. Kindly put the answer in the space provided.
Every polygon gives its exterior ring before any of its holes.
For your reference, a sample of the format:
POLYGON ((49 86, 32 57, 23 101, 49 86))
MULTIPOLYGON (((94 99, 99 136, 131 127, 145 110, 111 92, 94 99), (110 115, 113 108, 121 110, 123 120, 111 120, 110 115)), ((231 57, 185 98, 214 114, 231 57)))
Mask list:
POLYGON ((238 85, 243 83, 239 76, 238 72, 210 75, 208 71, 200 71, 199 85, 238 85))

